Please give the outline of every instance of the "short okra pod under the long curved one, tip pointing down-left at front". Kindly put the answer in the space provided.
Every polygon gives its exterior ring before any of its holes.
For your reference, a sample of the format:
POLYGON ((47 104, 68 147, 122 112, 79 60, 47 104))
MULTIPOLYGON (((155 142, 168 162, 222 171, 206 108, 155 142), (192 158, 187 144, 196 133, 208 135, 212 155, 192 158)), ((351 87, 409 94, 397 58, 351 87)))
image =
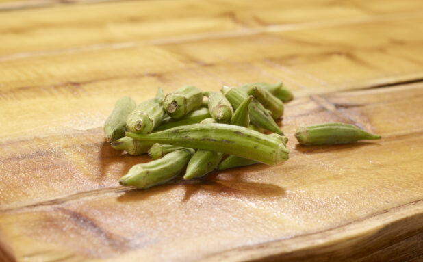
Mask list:
POLYGON ((223 153, 209 150, 197 150, 188 162, 183 179, 194 179, 213 171, 222 160, 223 153))

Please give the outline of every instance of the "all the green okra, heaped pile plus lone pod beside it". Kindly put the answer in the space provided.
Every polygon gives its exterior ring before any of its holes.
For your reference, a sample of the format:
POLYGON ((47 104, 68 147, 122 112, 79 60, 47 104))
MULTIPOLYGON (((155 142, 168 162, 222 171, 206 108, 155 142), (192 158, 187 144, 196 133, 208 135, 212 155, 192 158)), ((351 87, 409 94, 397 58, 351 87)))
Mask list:
MULTIPOLYGON (((107 141, 153 161, 133 166, 119 183, 146 189, 184 171, 183 179, 194 179, 216 169, 281 163, 288 159, 287 137, 274 120, 293 98, 283 83, 223 86, 219 92, 183 86, 166 96, 159 88, 138 106, 123 96, 105 120, 107 141)), ((305 146, 381 138, 344 123, 298 127, 295 137, 305 146)))

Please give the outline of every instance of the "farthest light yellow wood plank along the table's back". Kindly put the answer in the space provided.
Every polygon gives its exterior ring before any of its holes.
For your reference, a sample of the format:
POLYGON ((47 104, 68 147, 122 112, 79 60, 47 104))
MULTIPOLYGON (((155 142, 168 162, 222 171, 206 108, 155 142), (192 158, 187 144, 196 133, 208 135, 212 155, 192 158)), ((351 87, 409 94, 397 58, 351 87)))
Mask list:
POLYGON ((112 43, 131 45, 157 38, 165 42, 169 38, 187 36, 254 34, 257 30, 277 29, 275 25, 295 30, 297 27, 327 27, 339 23, 372 23, 381 19, 421 16, 418 10, 422 8, 423 3, 418 0, 389 3, 383 0, 371 3, 364 0, 342 3, 319 0, 313 1, 313 5, 293 0, 232 0, 225 3, 123 1, 59 5, 3 12, 0 16, 0 55, 26 55, 86 46, 110 48, 112 43), (113 14, 112 18, 110 14, 113 14))

